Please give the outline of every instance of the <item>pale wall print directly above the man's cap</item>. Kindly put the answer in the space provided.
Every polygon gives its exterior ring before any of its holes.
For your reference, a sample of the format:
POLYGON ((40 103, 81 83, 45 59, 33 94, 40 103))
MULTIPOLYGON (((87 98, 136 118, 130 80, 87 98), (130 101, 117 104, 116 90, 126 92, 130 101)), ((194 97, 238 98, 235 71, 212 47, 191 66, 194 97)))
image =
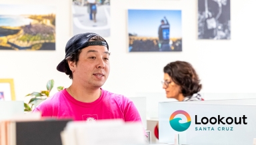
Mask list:
POLYGON ((110 0, 73 0, 73 35, 97 33, 110 37, 110 0))

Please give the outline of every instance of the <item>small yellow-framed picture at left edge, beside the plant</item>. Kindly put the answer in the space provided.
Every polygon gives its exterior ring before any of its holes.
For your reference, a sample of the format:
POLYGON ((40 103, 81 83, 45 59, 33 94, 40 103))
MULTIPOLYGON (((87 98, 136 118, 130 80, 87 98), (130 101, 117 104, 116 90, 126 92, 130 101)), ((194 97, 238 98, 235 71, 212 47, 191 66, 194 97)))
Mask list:
POLYGON ((12 78, 0 78, 0 100, 15 100, 14 82, 12 78))

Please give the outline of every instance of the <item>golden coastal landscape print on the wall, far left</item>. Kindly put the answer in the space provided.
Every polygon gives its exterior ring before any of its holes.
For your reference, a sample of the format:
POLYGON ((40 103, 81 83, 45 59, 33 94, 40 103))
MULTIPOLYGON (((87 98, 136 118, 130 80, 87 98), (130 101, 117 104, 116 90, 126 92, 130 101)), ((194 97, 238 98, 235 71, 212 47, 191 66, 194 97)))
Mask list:
POLYGON ((0 5, 0 50, 54 51, 55 7, 0 5))

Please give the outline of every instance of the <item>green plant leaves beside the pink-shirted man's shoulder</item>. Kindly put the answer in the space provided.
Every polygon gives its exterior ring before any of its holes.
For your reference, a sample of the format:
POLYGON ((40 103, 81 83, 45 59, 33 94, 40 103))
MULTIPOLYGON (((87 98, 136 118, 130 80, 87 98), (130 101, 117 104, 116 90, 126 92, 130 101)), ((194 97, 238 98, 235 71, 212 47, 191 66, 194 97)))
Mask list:
MULTIPOLYGON (((49 80, 46 84, 47 90, 41 90, 41 92, 32 92, 26 96, 32 96, 28 103, 24 102, 24 111, 30 112, 37 106, 40 102, 49 97, 51 89, 53 88, 54 80, 49 80)), ((58 86, 57 90, 63 90, 64 86, 58 86)))

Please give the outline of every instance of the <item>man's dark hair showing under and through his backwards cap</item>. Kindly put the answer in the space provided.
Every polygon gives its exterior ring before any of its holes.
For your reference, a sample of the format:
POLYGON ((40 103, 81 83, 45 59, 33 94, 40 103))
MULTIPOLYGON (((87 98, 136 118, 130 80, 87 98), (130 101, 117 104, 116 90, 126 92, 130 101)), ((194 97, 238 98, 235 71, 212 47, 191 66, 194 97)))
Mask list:
MULTIPOLYGON (((99 35, 95 36, 95 37, 91 37, 91 39, 89 39, 89 41, 105 41, 105 39, 103 39, 103 37, 100 37, 99 35)), ((75 64, 77 64, 77 62, 79 61, 79 55, 81 53, 81 49, 75 51, 75 53, 72 53, 71 55, 69 55, 69 57, 66 58, 66 61, 72 61, 75 64)), ((69 69, 69 64, 65 63, 65 74, 69 75, 69 78, 73 79, 73 73, 72 71, 69 69)))

